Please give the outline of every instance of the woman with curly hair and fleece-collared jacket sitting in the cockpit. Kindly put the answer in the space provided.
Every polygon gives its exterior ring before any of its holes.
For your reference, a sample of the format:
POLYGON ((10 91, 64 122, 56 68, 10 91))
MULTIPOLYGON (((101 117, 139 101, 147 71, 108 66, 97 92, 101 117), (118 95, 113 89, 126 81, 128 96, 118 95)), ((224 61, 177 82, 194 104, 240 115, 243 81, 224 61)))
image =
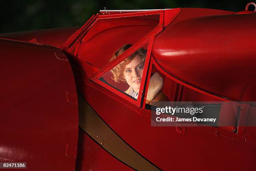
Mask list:
MULTIPOLYGON (((118 57, 132 45, 126 44, 118 49, 111 60, 118 57)), ((138 93, 141 86, 141 77, 143 74, 144 63, 146 58, 146 50, 138 49, 135 53, 120 62, 112 68, 112 79, 116 83, 126 82, 130 87, 124 91, 133 98, 138 98, 138 93)), ((159 73, 154 73, 149 82, 146 103, 151 104, 152 101, 169 101, 168 98, 161 92, 163 87, 163 78, 159 73)))

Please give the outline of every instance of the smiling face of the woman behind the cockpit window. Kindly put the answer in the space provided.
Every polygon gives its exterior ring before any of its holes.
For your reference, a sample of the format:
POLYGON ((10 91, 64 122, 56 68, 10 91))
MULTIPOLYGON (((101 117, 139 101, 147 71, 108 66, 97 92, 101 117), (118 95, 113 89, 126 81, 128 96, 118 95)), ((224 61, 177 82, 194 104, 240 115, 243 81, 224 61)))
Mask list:
POLYGON ((143 74, 144 63, 140 56, 135 56, 130 63, 125 65, 123 76, 126 82, 133 88, 134 92, 138 92, 141 86, 141 77, 143 74))

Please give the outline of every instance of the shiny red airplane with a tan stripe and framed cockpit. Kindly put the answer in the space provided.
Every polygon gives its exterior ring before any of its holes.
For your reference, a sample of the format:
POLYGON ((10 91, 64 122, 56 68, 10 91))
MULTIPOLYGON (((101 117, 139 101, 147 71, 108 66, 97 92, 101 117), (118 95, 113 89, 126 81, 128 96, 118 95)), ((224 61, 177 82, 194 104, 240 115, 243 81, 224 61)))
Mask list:
POLYGON ((248 5, 100 10, 81 28, 1 34, 0 162, 31 171, 255 171, 256 128, 238 125, 256 120, 248 5), (252 103, 239 103, 237 115, 222 108, 228 126, 151 126, 160 95, 252 103))

